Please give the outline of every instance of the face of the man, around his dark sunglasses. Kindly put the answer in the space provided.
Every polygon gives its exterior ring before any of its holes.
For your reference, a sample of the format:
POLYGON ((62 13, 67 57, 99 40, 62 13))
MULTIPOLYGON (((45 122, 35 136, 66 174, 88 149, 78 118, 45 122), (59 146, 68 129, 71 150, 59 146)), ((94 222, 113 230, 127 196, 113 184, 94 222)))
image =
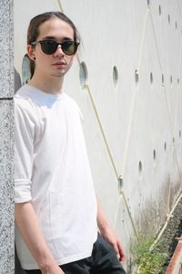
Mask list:
MULTIPOLYGON (((61 43, 67 39, 74 40, 74 31, 65 21, 52 18, 39 26, 39 36, 36 41, 51 39, 61 43)), ((35 45, 32 54, 35 57, 35 74, 47 77, 63 77, 73 63, 74 56, 67 56, 61 46, 56 52, 46 55, 40 43, 35 45)))

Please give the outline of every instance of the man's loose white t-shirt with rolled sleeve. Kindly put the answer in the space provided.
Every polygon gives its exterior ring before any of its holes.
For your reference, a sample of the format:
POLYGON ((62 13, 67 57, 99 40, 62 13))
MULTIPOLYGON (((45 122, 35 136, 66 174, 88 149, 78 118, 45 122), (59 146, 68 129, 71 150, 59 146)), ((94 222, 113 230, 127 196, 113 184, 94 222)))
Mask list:
MULTIPOLYGON (((15 203, 31 201, 59 265, 89 257, 97 236, 81 118, 66 93, 25 85, 15 94, 15 203)), ((17 227, 15 245, 22 268, 38 269, 17 227)))

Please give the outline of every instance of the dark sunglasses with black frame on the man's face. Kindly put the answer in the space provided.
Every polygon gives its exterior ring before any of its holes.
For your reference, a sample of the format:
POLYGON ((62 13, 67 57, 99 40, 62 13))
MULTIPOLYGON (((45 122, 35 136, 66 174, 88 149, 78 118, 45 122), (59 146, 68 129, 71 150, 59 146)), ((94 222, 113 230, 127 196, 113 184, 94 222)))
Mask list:
POLYGON ((78 42, 73 40, 67 40, 62 43, 57 43, 54 40, 41 40, 32 42, 31 45, 35 46, 36 44, 40 43, 42 51, 45 54, 53 54, 56 52, 57 47, 60 45, 63 52, 66 55, 74 55, 76 53, 77 47, 79 45, 78 42))

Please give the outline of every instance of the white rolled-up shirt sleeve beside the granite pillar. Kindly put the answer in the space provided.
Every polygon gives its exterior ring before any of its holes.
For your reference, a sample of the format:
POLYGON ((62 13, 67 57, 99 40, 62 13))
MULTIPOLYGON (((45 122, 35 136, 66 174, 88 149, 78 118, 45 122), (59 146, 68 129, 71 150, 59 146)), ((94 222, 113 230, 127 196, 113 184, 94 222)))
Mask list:
POLYGON ((34 132, 35 125, 28 111, 15 103, 15 203, 32 199, 34 132))

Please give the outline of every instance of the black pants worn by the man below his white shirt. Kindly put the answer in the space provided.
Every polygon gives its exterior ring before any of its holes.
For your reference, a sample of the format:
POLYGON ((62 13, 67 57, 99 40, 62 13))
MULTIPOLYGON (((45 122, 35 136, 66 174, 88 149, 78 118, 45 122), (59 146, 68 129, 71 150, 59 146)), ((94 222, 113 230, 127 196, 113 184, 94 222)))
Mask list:
MULTIPOLYGON (((84 258, 60 266, 66 274, 126 274, 116 258, 116 252, 106 240, 98 234, 89 258, 84 258)), ((41 274, 40 270, 26 270, 29 274, 41 274)))

